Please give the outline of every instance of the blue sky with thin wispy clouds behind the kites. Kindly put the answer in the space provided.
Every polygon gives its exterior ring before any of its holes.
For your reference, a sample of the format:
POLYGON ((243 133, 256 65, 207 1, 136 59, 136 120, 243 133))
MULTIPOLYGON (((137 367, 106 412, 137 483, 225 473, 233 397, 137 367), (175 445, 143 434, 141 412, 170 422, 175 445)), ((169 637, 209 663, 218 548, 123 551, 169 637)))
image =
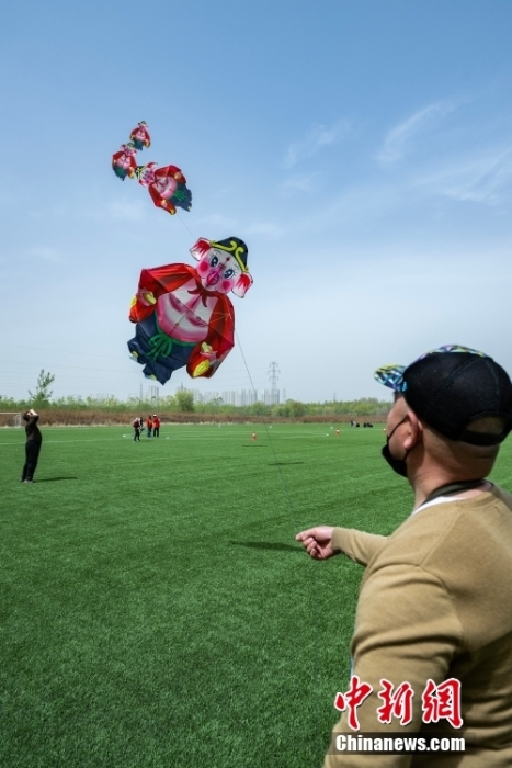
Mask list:
POLYGON ((254 284, 204 391, 387 393, 373 371, 443 343, 512 372, 509 0, 26 2, 3 12, 0 394, 146 387, 126 341, 143 267, 241 237, 254 284), (156 208, 111 156, 178 165, 156 208), (240 353, 243 351, 243 358, 240 353))

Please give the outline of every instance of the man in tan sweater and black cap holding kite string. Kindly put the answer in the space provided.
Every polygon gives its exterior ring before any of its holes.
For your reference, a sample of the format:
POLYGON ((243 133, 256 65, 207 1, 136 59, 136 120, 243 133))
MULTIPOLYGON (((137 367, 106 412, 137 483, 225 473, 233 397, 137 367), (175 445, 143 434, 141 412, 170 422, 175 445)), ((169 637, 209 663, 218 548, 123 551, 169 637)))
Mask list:
POLYGON ((511 381, 458 346, 375 375, 395 391, 383 455, 412 486, 412 515, 390 537, 297 535, 314 558, 366 566, 325 766, 512 766, 512 496, 485 479, 512 430, 511 381), (394 754, 357 752, 363 734, 394 754), (416 754, 384 741, 411 734, 437 741, 416 754))

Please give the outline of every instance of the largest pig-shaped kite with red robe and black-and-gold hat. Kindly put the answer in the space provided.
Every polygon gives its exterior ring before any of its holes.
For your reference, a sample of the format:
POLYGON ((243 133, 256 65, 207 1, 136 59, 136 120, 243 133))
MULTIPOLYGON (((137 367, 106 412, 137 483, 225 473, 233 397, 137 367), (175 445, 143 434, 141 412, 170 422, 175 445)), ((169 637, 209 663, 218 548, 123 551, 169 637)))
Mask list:
POLYGON ((144 269, 132 302, 136 330, 128 349, 145 376, 160 384, 184 365, 193 379, 213 376, 235 346, 235 312, 226 294, 242 298, 252 285, 247 246, 238 237, 200 238, 191 253, 195 269, 144 269))

